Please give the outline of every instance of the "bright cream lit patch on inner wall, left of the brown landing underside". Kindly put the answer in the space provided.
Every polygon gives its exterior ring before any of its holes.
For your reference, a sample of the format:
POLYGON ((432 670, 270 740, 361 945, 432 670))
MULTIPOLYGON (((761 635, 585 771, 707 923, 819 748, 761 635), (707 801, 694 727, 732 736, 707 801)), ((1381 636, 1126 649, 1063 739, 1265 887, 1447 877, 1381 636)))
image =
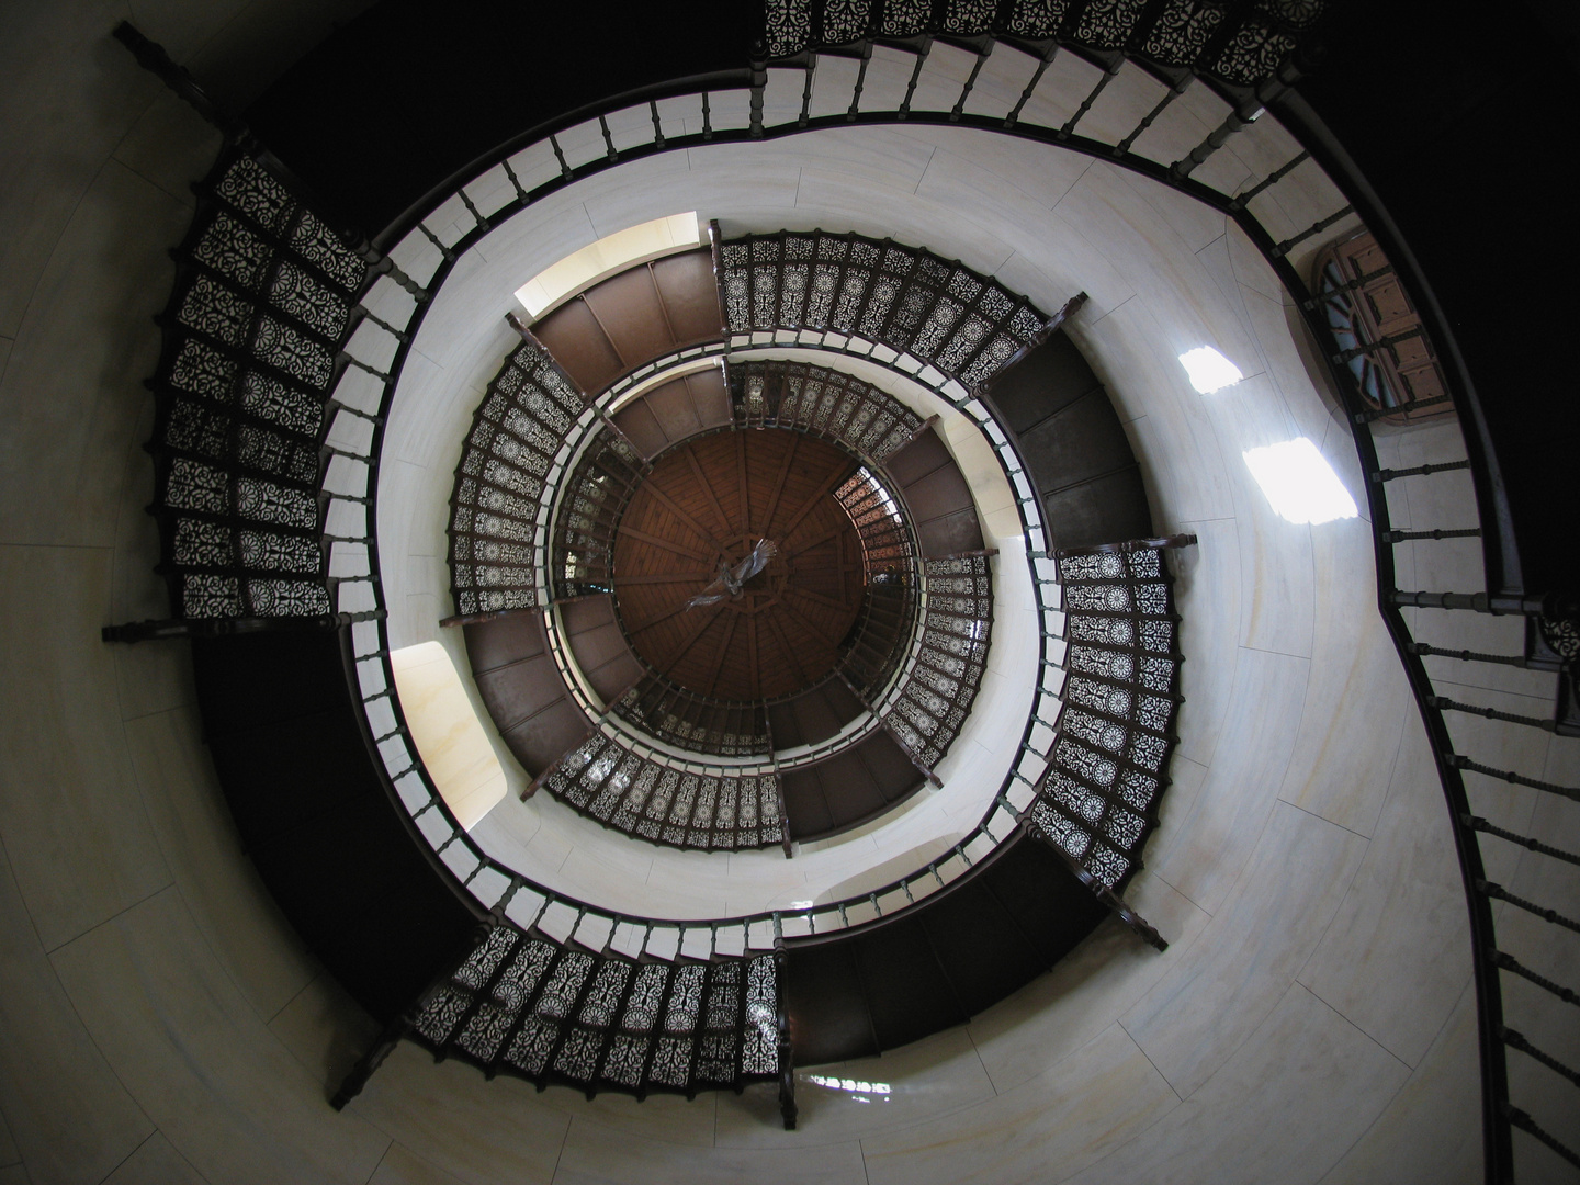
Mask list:
POLYGON ((390 653, 395 692, 412 744, 444 804, 471 831, 504 798, 504 766, 495 755, 472 702, 438 641, 390 653))

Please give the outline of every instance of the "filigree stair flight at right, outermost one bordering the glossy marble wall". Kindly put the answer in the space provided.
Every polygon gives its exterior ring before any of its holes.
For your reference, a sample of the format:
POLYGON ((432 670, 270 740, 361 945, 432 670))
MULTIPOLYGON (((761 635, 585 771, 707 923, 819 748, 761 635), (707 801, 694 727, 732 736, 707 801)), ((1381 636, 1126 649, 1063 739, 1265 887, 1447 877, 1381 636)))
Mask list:
POLYGON ((1141 867, 1169 784, 1179 697, 1179 616, 1161 547, 1141 540, 1059 551, 1065 708, 1030 817, 1103 888, 1141 867))

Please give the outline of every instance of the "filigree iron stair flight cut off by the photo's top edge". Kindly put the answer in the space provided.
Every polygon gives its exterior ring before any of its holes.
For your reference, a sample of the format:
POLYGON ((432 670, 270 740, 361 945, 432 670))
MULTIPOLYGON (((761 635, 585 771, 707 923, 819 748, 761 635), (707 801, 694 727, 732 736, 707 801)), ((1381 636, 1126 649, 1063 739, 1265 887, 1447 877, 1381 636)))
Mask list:
POLYGON ((1289 57, 1326 0, 769 0, 768 54, 913 38, 1014 38, 1093 55, 1123 52, 1231 85, 1253 85, 1289 57))

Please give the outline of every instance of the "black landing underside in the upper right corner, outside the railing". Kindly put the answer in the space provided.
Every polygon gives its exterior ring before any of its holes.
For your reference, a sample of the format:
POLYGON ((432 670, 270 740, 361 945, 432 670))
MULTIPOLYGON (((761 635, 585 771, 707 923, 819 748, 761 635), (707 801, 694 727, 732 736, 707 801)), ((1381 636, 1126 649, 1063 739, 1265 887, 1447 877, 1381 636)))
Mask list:
POLYGON ((1563 346, 1580 313, 1575 27, 1574 6, 1558 5, 1349 5, 1299 85, 1394 216, 1458 338, 1534 592, 1580 588, 1580 551, 1553 547, 1550 532, 1574 499, 1580 441, 1563 346))

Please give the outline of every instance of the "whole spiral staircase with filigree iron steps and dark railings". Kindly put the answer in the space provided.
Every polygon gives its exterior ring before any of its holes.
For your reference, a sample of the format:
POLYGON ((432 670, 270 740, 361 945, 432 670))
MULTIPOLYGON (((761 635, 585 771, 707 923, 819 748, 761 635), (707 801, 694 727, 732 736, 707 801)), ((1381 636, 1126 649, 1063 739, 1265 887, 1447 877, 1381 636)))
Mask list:
MULTIPOLYGON (((1024 564, 1040 623, 1024 750, 984 796, 975 831, 943 858, 860 897, 706 921, 570 899, 471 842, 428 777, 393 690, 376 502, 381 441, 412 340, 466 246, 578 177, 687 145, 795 134, 818 120, 995 123, 1106 155, 1229 212, 1285 286, 1305 294, 1291 253, 1315 245, 1352 209, 1275 237, 1253 201, 1322 145, 1313 142, 1237 194, 1193 174, 1283 98, 1289 54, 1319 6, 1008 8, 959 5, 935 16, 874 6, 847 27, 834 6, 771 6, 762 60, 733 84, 744 100, 735 123, 713 123, 706 90, 695 92, 697 131, 667 130, 657 96, 640 107, 611 103, 589 118, 534 130, 531 145, 551 149, 559 175, 528 186, 512 167, 528 144, 507 144, 461 183, 427 198, 420 216, 398 220, 371 242, 332 231, 307 186, 245 136, 232 136, 199 186, 150 381, 160 406, 149 444, 153 512, 172 616, 111 627, 106 637, 193 638, 209 746, 248 853, 310 946, 384 1025, 337 1104, 409 1038, 490 1076, 559 1082, 589 1097, 695 1095, 773 1081, 788 1127, 795 1065, 867 1055, 959 1024, 1046 972, 1111 913, 1141 940, 1166 945, 1123 891, 1169 784, 1190 626, 1174 610, 1168 553, 1194 539, 1152 537, 1138 460, 1103 384, 1062 332, 1066 318, 1081 316, 1081 297, 1049 316, 992 276, 916 245, 774 228, 725 237, 714 228, 709 250, 643 264, 532 327, 518 325, 521 344, 477 404, 457 468, 447 624, 465 630, 493 725, 531 793, 553 795, 630 842, 782 845, 790 856, 796 842, 882 820, 937 784, 991 646, 994 574, 1024 564), (951 109, 924 111, 912 100, 934 38, 972 47, 976 70, 951 109), (967 101, 995 40, 1038 65, 1021 103, 989 120, 967 101), (878 41, 913 54, 915 74, 894 109, 860 111, 878 41), (1068 122, 1043 128, 1025 118, 1025 104, 1060 49, 1100 74, 1068 122), (848 111, 814 114, 820 54, 861 63, 848 111), (792 104, 782 123, 765 115, 768 62, 806 77, 799 111, 792 104), (1164 87, 1157 107, 1114 144, 1078 134, 1127 63, 1141 63, 1164 87), (1231 103, 1223 126, 1166 167, 1136 155, 1136 142, 1198 76, 1231 103), (610 120, 632 109, 651 109, 651 133, 626 142, 629 125, 615 118, 616 147, 610 120), (591 141, 577 134, 589 130, 597 131, 591 141), (567 155, 561 139, 583 153, 567 155), (434 218, 441 205, 465 213, 434 218), (621 288, 638 281, 660 316, 623 300, 621 288), (713 308, 700 291, 711 292, 713 308), (624 322, 616 308, 629 314, 624 322), (923 395, 899 400, 845 373, 848 359, 886 367, 923 395), (709 368, 698 370, 698 360, 709 368), (1011 491, 1024 555, 984 547, 951 441, 918 406, 948 409, 988 444, 1011 491), (788 695, 728 700, 672 678, 634 641, 619 594, 632 569, 621 547, 635 537, 632 507, 657 488, 648 483, 657 463, 697 442, 758 433, 815 438, 844 458, 818 496, 845 491, 834 501, 853 532, 850 555, 866 559, 855 624, 830 640, 820 673, 801 672, 803 686, 788 695), (874 580, 874 556, 891 580, 874 580)), ((123 40, 201 101, 156 47, 133 30, 123 40)), ((692 92, 678 87, 662 98, 681 93, 692 92)), ((1341 177, 1332 158, 1327 167, 1341 177)), ((1352 205, 1365 210, 1360 199, 1352 205)), ((1381 218, 1367 224, 1386 235, 1381 218)), ((1389 248, 1389 267, 1408 272, 1408 254, 1389 248)), ((1362 280, 1326 299, 1345 299, 1362 280)), ((1318 300, 1307 299, 1305 311, 1321 325, 1318 300)), ((1450 340, 1427 319, 1439 346, 1450 340)), ((1503 1180, 1512 1128, 1574 1158, 1558 1134, 1509 1101, 1503 1051, 1571 1079, 1574 1071, 1506 1024, 1499 972, 1564 1003, 1574 994, 1529 957, 1496 946, 1490 902, 1574 923, 1488 882, 1476 834, 1572 856, 1473 815, 1463 771, 1567 798, 1574 792, 1455 750, 1443 713, 1499 716, 1431 692, 1420 656, 1450 653, 1414 641, 1398 610, 1525 613, 1533 623, 1526 654, 1455 657, 1547 664, 1566 672, 1564 689, 1572 634, 1552 597, 1506 589, 1462 604, 1455 594, 1392 586, 1387 548, 1420 536, 1389 526, 1382 490, 1449 466, 1378 463, 1370 425, 1389 409, 1346 386, 1338 363, 1348 359, 1335 359, 1373 474, 1384 615, 1441 752, 1465 860, 1488 1179, 1503 1180)), ((1474 397, 1457 381, 1450 368, 1441 401, 1474 423, 1474 397)), ((1488 510, 1501 506, 1498 471, 1485 441, 1468 450, 1465 465, 1487 502, 1480 529, 1490 532, 1488 510)), ((676 521, 689 515, 670 514, 676 521)), ((755 531, 749 509, 741 520, 743 539, 774 528, 773 512, 755 531)), ((1510 547, 1504 540, 1504 555, 1510 547)), ((705 548, 689 564, 711 558, 705 548)), ((694 585, 702 585, 695 572, 694 585)), ((719 654, 732 638, 719 641, 719 654)), ((1571 695, 1555 720, 1534 725, 1569 735, 1572 716, 1571 695)))

